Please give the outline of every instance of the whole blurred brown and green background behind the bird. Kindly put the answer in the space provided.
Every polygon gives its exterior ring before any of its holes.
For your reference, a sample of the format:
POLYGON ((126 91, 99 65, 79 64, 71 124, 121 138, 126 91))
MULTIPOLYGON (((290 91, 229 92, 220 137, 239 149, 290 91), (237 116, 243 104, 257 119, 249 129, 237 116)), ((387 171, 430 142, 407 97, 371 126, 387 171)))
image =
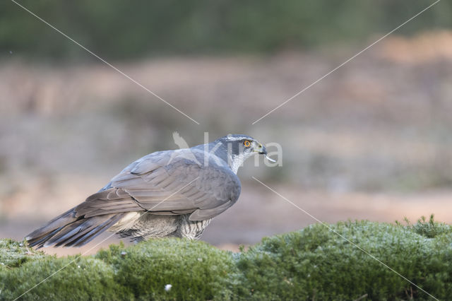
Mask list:
POLYGON ((283 148, 283 166, 239 171, 242 196, 203 235, 225 249, 315 222, 251 176, 328 223, 452 222, 451 2, 254 125, 433 1, 18 2, 200 125, 1 1, 0 237, 22 239, 133 160, 177 148, 173 131, 190 146, 208 131, 283 148))

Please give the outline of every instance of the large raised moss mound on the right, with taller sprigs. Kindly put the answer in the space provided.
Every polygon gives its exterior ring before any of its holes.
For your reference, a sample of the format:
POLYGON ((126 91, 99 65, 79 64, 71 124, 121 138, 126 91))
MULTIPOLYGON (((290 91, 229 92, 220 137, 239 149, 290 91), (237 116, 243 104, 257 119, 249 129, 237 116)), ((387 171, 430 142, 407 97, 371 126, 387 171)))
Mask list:
MULTIPOLYGON (((369 221, 330 226, 435 297, 452 295, 451 233, 369 221)), ((442 227, 442 226, 441 226, 442 227)), ((428 295, 324 225, 264 239, 237 259, 239 295, 261 300, 427 300, 428 295)))

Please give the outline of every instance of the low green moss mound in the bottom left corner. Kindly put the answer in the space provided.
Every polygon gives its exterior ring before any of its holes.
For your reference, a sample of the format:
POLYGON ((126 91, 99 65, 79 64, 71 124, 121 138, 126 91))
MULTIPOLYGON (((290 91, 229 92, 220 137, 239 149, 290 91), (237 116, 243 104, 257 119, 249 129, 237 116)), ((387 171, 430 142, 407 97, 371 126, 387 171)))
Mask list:
POLYGON ((0 300, 13 300, 30 289, 20 300, 128 298, 125 290, 114 282, 113 276, 112 266, 99 259, 45 256, 40 260, 28 261, 18 268, 0 271, 0 300))

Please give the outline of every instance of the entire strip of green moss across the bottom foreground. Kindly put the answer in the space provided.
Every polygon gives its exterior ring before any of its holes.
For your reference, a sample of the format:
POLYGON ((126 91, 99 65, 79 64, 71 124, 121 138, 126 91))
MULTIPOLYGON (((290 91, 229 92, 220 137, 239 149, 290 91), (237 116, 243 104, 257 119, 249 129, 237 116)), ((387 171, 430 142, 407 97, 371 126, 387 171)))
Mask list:
POLYGON ((432 300, 420 288, 452 295, 452 227, 432 217, 315 224, 237 254, 177 239, 67 258, 11 240, 0 246, 0 300, 30 288, 20 300, 432 300))

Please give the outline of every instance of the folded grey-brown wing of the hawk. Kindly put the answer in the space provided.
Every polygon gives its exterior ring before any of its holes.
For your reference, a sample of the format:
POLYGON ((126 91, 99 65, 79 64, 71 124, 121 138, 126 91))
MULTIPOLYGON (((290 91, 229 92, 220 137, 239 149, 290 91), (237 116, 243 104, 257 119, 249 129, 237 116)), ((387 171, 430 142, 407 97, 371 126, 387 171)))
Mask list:
POLYGON ((105 190, 78 205, 76 217, 149 211, 157 215, 191 213, 191 220, 206 220, 237 201, 240 182, 224 161, 209 157, 203 165, 199 163, 204 162, 203 153, 194 153, 198 162, 187 159, 184 150, 177 154, 157 152, 132 163, 105 190))

